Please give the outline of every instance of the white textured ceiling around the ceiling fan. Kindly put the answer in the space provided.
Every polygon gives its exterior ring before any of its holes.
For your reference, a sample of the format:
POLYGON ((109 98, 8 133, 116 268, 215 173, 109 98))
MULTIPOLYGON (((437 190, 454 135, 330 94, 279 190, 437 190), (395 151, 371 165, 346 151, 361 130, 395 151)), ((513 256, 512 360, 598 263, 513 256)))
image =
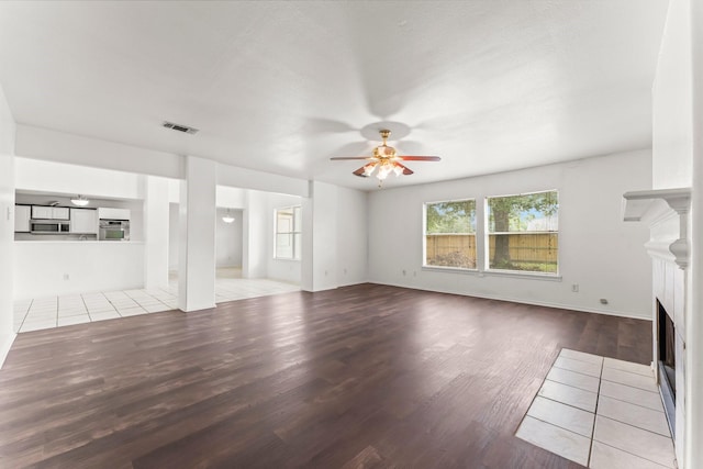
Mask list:
POLYGON ((0 83, 18 123, 372 190, 328 158, 386 125, 442 157, 386 186, 650 147, 667 7, 0 2, 0 83))

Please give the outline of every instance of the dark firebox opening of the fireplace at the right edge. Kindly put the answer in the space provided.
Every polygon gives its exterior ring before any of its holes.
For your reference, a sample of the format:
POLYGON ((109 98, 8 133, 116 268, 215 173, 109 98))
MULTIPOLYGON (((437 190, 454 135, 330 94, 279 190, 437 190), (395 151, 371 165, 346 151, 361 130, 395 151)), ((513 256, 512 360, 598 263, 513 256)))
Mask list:
POLYGON ((657 300, 657 328, 658 328, 658 370, 659 388, 663 400, 667 420, 671 435, 676 432, 676 403, 677 403, 677 359, 676 359, 676 326, 667 310, 657 300))

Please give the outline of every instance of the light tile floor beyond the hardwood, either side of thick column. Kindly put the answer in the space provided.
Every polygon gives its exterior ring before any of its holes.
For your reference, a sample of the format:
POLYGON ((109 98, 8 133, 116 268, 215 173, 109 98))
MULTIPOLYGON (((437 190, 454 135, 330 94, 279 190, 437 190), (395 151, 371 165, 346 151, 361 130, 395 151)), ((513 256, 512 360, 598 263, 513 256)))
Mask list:
MULTIPOLYGON (((267 279, 215 279, 215 303, 300 290, 267 279)), ((124 290, 35 298, 14 302, 19 333, 178 309, 178 280, 163 290, 124 290)))

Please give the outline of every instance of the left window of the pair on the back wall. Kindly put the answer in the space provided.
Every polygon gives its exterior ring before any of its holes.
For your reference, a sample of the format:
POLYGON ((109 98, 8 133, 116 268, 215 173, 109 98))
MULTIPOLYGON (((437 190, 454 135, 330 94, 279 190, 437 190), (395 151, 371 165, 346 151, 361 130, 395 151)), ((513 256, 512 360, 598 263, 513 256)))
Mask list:
POLYGON ((476 269, 476 200, 425 203, 424 265, 476 269))

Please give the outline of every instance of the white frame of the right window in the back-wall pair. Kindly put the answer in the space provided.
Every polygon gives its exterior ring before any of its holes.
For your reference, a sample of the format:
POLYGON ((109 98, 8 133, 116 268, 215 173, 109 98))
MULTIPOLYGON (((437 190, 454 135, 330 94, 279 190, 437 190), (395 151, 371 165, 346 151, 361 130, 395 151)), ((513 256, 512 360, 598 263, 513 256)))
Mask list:
MULTIPOLYGON (((546 190, 537 190, 537 191, 532 191, 532 192, 520 192, 520 193, 513 193, 513 194, 501 194, 501 196, 486 196, 483 198, 483 236, 482 236, 482 243, 483 243, 483 263, 482 263, 482 267, 483 270, 482 272, 486 273, 491 273, 491 275, 496 275, 496 276, 506 276, 506 277, 537 277, 537 278, 545 278, 545 279, 561 279, 561 249, 559 248, 559 235, 561 232, 561 227, 560 224, 557 225, 557 230, 551 232, 551 231, 539 231, 539 232, 491 232, 490 231, 490 210, 489 210, 489 199, 502 199, 502 198, 509 198, 509 197, 523 197, 523 196, 533 196, 533 194, 539 194, 539 193, 548 193, 548 192, 555 192, 557 196, 557 220, 559 217, 559 212, 561 209, 561 204, 559 202, 559 190, 558 189, 546 189, 546 190), (545 272, 545 271, 538 271, 538 270, 520 270, 520 269, 498 269, 498 268, 491 268, 490 264, 491 264, 491 248, 490 248, 490 236, 491 235, 496 235, 496 234, 511 234, 511 233, 548 233, 548 234, 554 234, 556 236, 557 239, 557 268, 556 271, 554 272, 545 272)), ((510 228, 510 227, 509 227, 510 228)))

